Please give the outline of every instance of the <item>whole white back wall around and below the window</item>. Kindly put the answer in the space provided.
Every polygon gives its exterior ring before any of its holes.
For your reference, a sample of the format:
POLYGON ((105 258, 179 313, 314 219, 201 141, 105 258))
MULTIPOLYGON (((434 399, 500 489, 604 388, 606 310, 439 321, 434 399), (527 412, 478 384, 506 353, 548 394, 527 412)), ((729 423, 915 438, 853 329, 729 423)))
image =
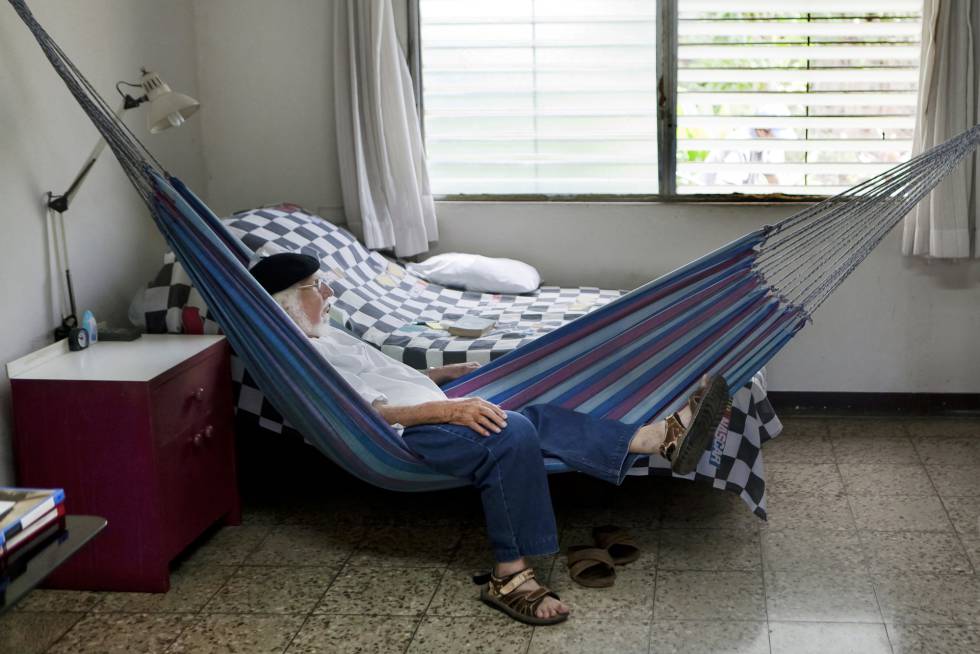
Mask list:
MULTIPOLYGON (((403 16, 402 4, 396 0, 403 16)), ((204 98, 220 107, 205 120, 204 141, 208 195, 219 211, 287 199, 333 216, 342 204, 329 5, 198 3, 204 98), (256 91, 266 102, 250 99, 256 91)), ((800 208, 443 202, 435 251, 518 257, 548 283, 631 288, 800 208)), ((978 307, 980 264, 905 259, 894 233, 777 356, 771 386, 980 392, 978 307)))

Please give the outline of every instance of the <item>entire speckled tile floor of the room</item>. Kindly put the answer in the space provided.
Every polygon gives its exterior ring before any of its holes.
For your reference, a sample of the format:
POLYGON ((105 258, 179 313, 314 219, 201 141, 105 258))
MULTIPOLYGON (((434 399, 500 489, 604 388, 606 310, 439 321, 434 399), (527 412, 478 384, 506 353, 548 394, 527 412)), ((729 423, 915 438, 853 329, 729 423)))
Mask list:
POLYGON ((36 591, 0 652, 980 652, 980 421, 790 419, 765 455, 768 523, 686 482, 552 478, 564 545, 612 522, 644 549, 606 590, 535 561, 573 607, 559 627, 478 601, 474 492, 318 463, 246 498, 169 593, 36 591))

